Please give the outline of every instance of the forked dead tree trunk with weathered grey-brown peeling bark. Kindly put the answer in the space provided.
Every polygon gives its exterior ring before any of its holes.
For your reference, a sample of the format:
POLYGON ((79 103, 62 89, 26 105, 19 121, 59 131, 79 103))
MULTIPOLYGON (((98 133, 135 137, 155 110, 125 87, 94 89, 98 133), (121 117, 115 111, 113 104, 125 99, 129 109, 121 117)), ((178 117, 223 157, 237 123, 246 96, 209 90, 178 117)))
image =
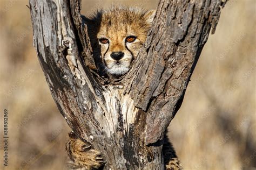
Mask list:
POLYGON ((224 4, 161 0, 130 72, 111 82, 85 66, 84 58, 93 59, 80 0, 30 0, 34 46, 51 94, 70 128, 103 153, 106 169, 164 169, 161 139, 224 4))

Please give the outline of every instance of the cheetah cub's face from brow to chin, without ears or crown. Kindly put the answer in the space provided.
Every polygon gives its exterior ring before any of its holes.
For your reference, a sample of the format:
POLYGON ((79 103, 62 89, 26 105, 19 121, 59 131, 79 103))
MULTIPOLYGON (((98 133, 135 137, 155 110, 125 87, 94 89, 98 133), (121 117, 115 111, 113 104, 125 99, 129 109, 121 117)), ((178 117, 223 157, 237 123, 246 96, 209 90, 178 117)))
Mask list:
POLYGON ((123 75, 145 42, 147 32, 131 25, 120 28, 102 27, 97 34, 105 69, 109 74, 123 75))

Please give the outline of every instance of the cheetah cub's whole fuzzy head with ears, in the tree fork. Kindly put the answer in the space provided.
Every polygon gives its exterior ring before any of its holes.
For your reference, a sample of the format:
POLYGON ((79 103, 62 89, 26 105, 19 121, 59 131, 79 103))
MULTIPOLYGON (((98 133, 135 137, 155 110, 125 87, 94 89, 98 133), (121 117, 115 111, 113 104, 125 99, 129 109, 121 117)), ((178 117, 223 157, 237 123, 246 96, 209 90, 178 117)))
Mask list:
POLYGON ((154 15, 155 10, 112 8, 85 18, 98 67, 116 77, 128 72, 146 40, 154 15))

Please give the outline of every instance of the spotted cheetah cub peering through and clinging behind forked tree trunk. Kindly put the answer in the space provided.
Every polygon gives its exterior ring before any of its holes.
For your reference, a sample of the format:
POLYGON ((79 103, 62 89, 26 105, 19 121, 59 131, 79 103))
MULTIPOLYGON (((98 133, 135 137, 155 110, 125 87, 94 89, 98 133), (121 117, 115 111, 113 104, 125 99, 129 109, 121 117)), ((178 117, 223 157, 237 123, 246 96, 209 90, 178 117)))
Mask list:
MULTIPOLYGON (((84 17, 93 49, 93 58, 100 75, 117 79, 129 71, 147 38, 156 11, 113 7, 84 17)), ((70 168, 99 169, 105 164, 97 150, 69 134, 66 151, 70 168)), ((166 169, 181 169, 180 162, 170 141, 165 137, 163 154, 166 169)))

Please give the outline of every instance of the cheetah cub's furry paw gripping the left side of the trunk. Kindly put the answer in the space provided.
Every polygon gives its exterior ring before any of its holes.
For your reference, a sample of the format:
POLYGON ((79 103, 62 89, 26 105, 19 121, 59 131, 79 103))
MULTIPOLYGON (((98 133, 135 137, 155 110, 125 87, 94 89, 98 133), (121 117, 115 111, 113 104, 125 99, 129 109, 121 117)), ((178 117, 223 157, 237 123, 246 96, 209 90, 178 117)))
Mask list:
POLYGON ((66 151, 68 152, 72 168, 99 169, 105 164, 102 154, 94 150, 90 143, 84 143, 75 133, 69 133, 69 140, 66 142, 66 151))

